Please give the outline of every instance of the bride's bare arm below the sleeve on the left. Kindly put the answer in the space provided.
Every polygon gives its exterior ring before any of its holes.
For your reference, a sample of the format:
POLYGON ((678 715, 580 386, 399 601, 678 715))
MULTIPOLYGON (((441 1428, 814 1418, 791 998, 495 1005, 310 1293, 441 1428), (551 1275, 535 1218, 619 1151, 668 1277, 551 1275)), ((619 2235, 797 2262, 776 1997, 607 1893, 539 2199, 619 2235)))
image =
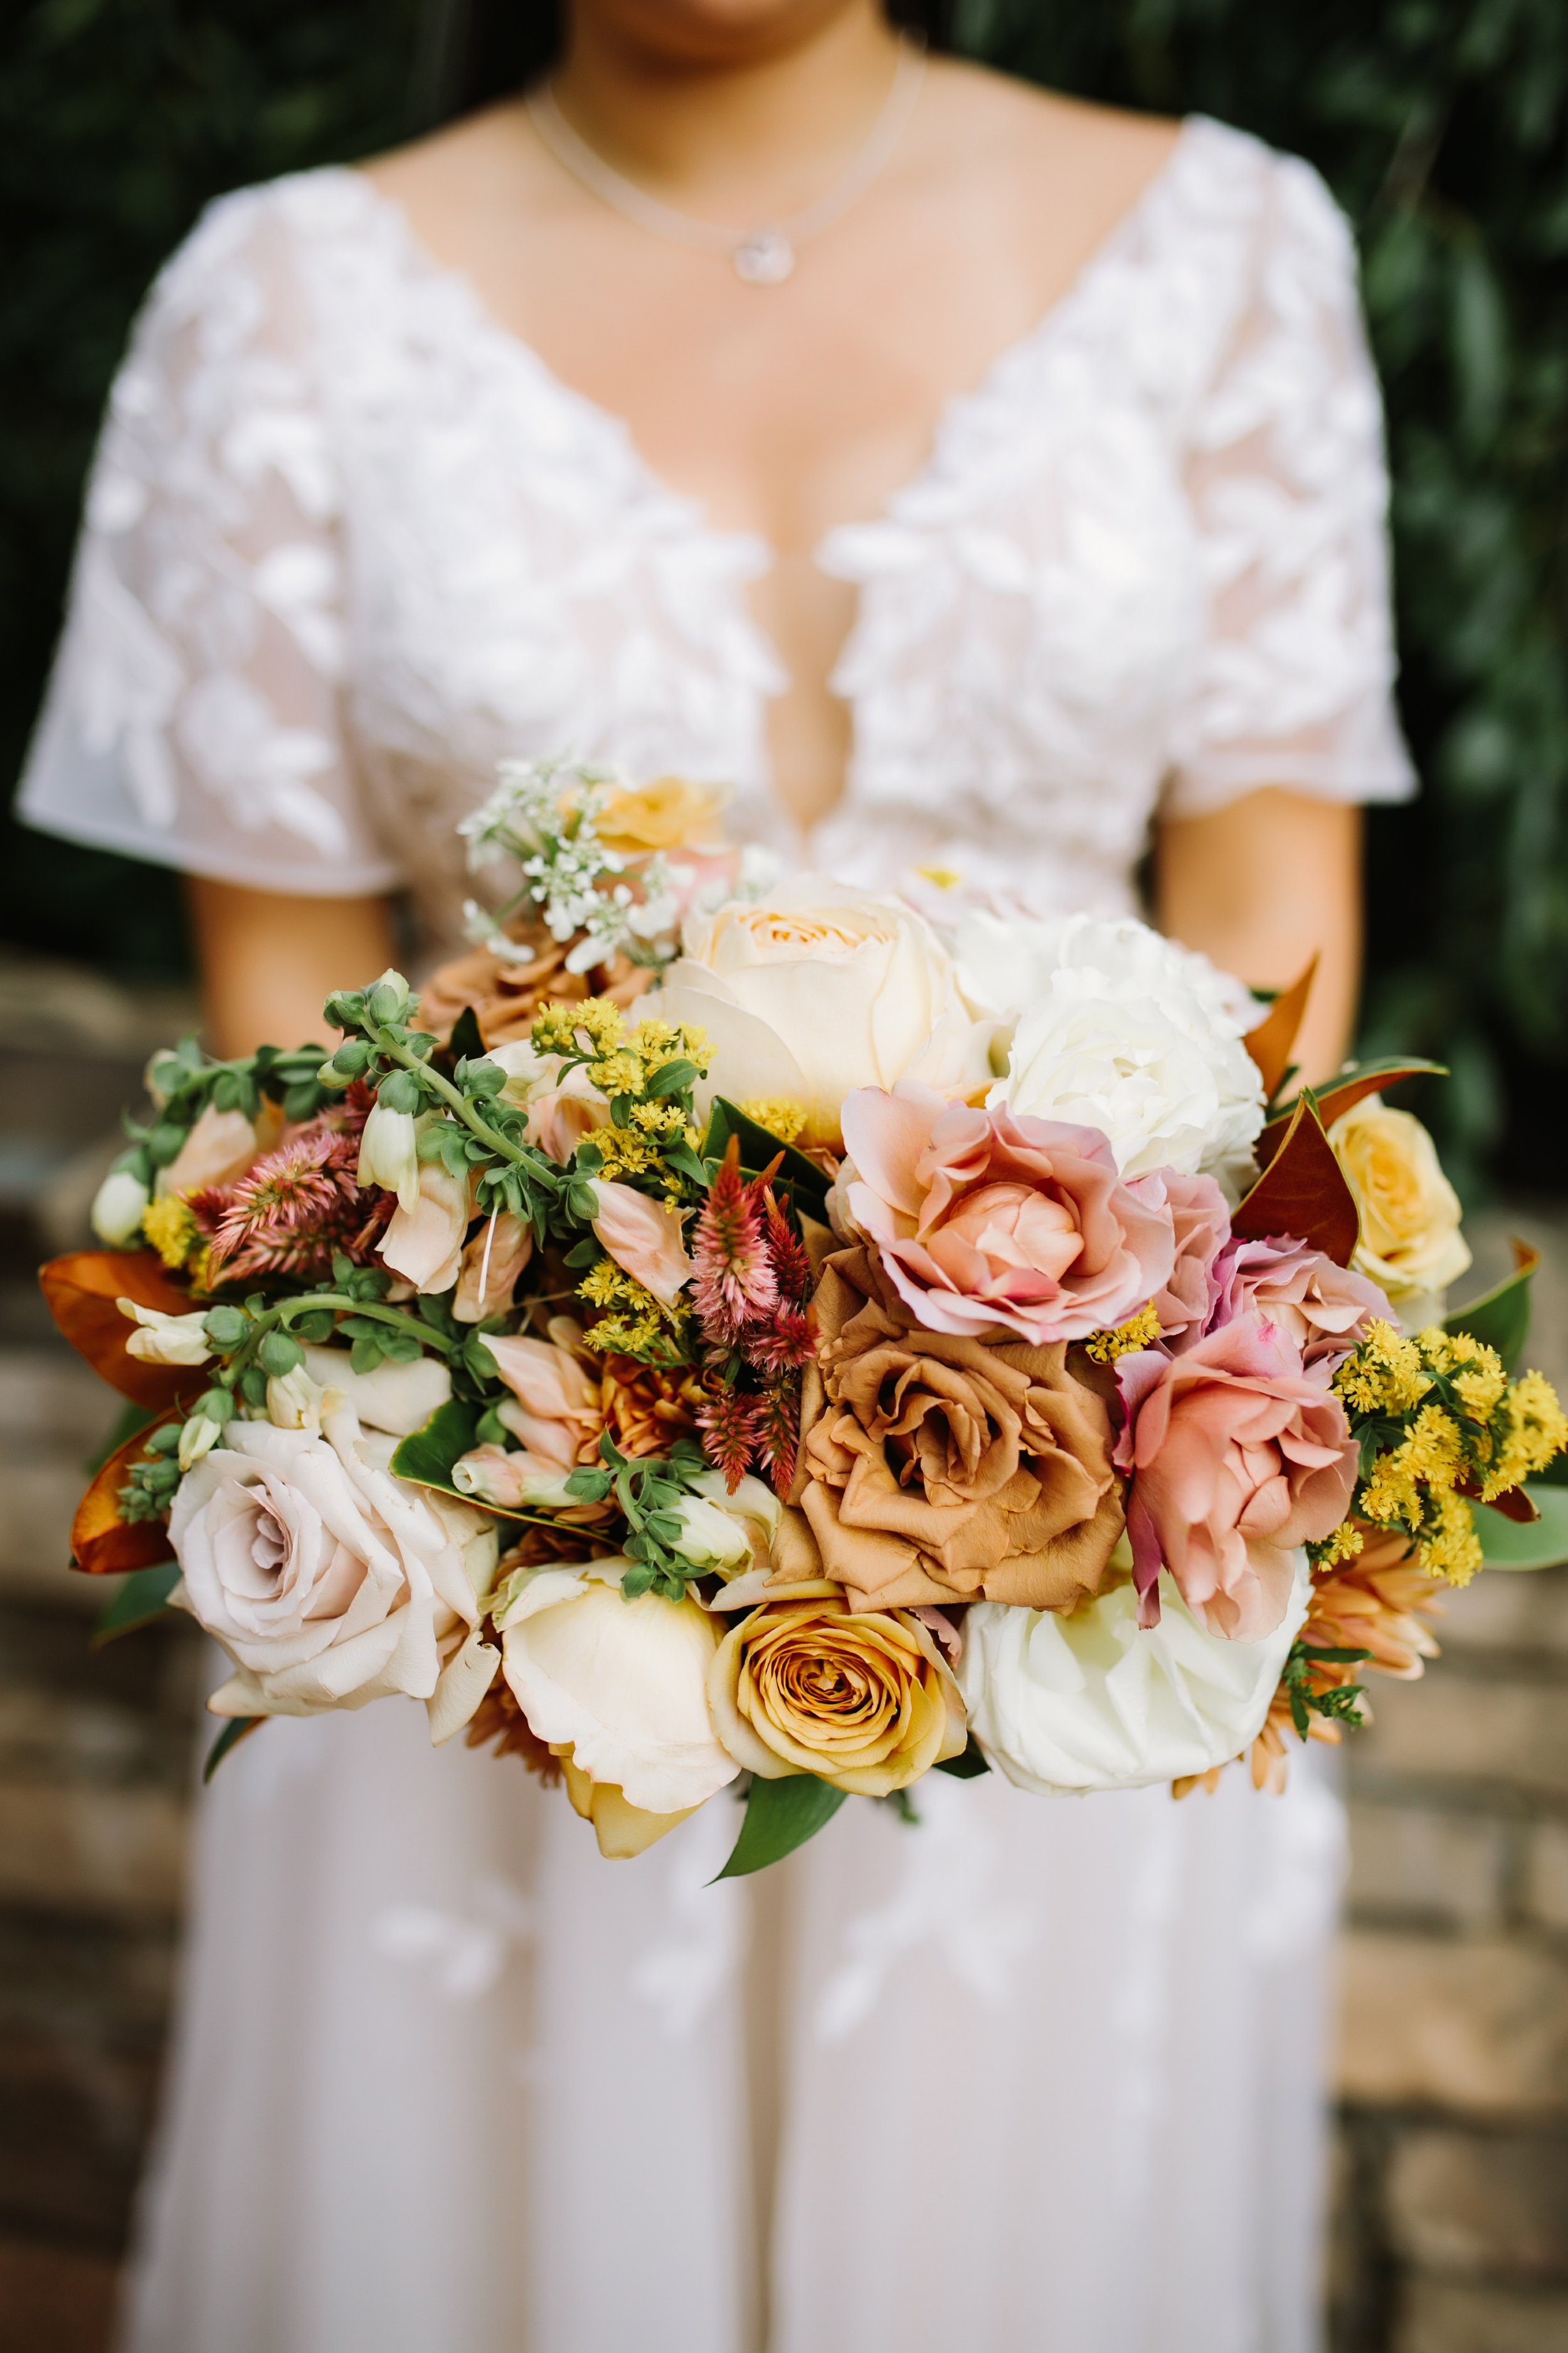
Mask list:
POLYGON ((386 899, 306 899, 190 878, 207 1047, 249 1054, 334 1033, 322 1002, 393 965, 386 899))

